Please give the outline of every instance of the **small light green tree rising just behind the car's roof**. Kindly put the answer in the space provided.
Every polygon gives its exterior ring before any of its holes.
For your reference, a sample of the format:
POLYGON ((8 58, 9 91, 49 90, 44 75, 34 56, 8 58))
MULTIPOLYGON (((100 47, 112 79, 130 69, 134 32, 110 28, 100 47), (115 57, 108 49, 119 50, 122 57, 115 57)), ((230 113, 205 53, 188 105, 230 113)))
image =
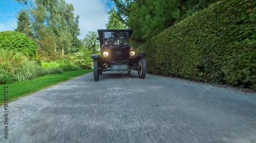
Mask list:
POLYGON ((106 24, 106 29, 108 30, 123 30, 126 29, 125 24, 120 17, 117 15, 114 8, 107 12, 109 14, 109 21, 106 24))

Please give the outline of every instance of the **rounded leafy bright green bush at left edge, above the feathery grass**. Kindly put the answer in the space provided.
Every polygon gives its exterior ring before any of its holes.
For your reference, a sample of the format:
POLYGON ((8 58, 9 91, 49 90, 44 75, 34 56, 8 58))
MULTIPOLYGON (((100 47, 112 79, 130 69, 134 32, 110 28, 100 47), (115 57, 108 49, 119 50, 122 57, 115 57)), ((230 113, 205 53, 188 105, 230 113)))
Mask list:
POLYGON ((0 41, 0 49, 22 52, 29 58, 36 59, 37 45, 25 34, 15 31, 0 32, 0 41))

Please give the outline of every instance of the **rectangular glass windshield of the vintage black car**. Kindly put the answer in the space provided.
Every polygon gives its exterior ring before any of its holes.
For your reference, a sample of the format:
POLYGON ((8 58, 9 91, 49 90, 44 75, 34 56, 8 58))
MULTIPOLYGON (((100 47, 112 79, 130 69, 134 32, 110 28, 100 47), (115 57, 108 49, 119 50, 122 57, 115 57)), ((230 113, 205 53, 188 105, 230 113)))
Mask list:
POLYGON ((105 45, 128 45, 128 32, 104 32, 105 45))

